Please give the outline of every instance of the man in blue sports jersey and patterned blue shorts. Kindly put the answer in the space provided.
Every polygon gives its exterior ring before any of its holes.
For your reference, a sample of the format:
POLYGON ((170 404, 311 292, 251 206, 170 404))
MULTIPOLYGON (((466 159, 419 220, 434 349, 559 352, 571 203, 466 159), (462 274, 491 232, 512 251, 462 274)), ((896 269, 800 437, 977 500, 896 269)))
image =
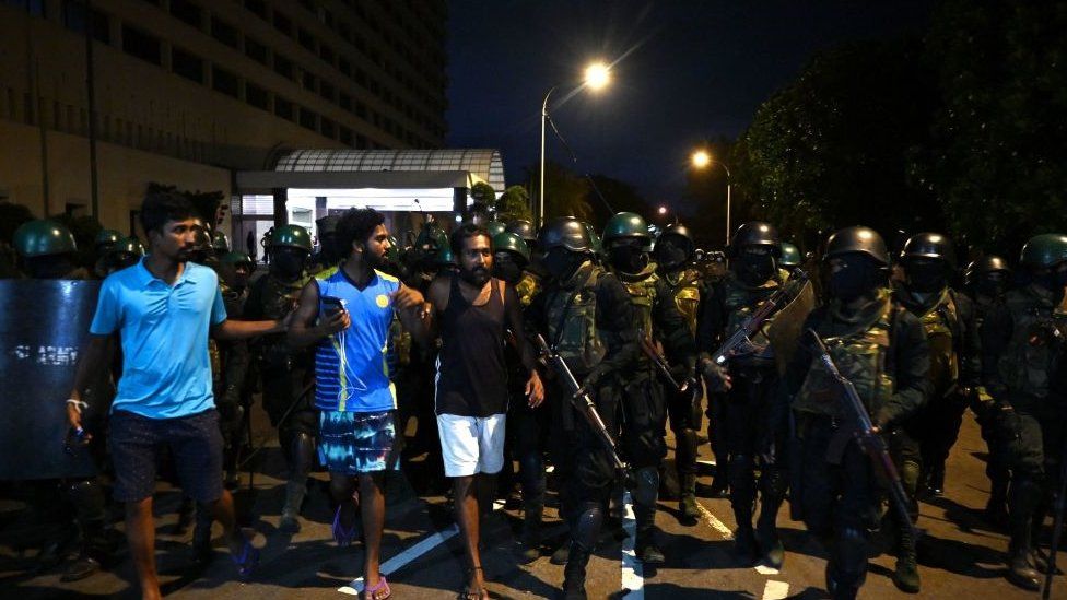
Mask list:
POLYGON ((430 309, 422 294, 378 270, 391 246, 382 213, 347 211, 337 225, 337 239, 347 258, 304 287, 289 343, 318 344, 318 455, 330 471, 330 491, 338 504, 333 537, 339 545, 355 537, 352 493, 357 479, 366 544, 363 598, 382 600, 391 595, 378 573, 385 525, 382 483, 385 471, 397 467, 397 436, 403 434, 396 427, 397 393, 386 363, 389 325, 396 315, 415 338, 424 339, 430 309))

